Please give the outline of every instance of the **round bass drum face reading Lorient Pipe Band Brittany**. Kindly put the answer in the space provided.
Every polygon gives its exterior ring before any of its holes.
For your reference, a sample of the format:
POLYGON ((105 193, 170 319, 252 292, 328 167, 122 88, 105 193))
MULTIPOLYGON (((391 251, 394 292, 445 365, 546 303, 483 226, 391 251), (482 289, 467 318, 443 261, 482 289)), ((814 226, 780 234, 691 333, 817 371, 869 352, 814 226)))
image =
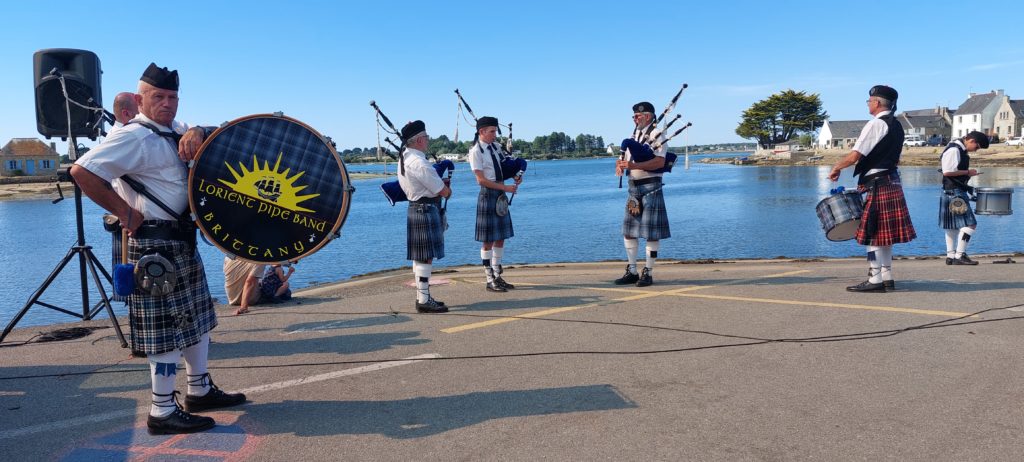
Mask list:
POLYGON ((319 250, 344 224, 353 192, 330 141, 278 114, 221 126, 188 175, 188 205, 203 236, 257 263, 319 250))

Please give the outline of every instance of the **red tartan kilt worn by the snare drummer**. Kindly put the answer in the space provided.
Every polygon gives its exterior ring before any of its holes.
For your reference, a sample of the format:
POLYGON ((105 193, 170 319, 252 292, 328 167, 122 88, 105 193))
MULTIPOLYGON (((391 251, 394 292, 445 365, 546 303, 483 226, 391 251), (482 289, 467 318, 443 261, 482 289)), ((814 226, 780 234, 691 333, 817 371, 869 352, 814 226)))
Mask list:
POLYGON ((878 186, 872 192, 867 191, 864 200, 864 214, 860 217, 860 227, 857 228, 857 243, 863 246, 891 246, 913 241, 918 237, 910 221, 910 211, 906 208, 903 197, 903 184, 898 175, 891 175, 890 183, 878 186), (873 235, 866 232, 871 209, 877 208, 878 225, 873 235))

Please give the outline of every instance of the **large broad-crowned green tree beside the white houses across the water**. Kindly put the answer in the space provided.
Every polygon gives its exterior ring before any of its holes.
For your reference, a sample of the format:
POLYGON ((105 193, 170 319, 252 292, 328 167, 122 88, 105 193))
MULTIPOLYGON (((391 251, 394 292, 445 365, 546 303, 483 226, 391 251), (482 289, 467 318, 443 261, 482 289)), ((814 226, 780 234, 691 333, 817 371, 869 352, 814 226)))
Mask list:
POLYGON ((736 134, 757 139, 761 145, 770 148, 800 133, 814 132, 827 118, 828 114, 821 109, 821 98, 817 93, 785 90, 743 111, 736 134))

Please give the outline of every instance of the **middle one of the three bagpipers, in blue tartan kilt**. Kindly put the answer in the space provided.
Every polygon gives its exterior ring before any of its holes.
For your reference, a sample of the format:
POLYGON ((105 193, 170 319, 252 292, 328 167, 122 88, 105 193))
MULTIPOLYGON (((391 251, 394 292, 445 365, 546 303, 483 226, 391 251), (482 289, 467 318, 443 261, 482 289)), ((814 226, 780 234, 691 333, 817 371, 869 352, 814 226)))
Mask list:
POLYGON ((512 215, 508 212, 508 196, 515 193, 522 177, 513 177, 512 184, 505 184, 502 175, 502 146, 498 139, 498 119, 481 117, 476 121, 476 136, 469 150, 469 167, 476 175, 480 195, 476 199, 476 240, 482 243, 480 260, 483 274, 487 278, 486 289, 490 292, 508 292, 515 286, 502 279, 502 256, 505 255, 505 240, 515 235, 512 230, 512 215), (503 202, 504 207, 499 202, 503 202))

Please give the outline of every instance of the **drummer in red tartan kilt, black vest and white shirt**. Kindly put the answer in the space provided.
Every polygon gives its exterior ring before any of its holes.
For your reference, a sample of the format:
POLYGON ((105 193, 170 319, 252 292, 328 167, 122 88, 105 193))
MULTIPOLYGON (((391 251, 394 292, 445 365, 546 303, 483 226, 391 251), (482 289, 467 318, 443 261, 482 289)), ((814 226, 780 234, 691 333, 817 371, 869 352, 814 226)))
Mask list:
POLYGON ((876 85, 867 95, 867 110, 874 118, 864 125, 853 151, 833 167, 828 178, 837 181, 844 168, 856 165, 853 174, 858 176, 857 190, 867 194, 857 243, 867 247, 868 279, 846 290, 886 292, 896 289, 893 244, 910 242, 918 234, 896 169, 903 151, 903 125, 894 117, 899 93, 892 87, 876 85))

